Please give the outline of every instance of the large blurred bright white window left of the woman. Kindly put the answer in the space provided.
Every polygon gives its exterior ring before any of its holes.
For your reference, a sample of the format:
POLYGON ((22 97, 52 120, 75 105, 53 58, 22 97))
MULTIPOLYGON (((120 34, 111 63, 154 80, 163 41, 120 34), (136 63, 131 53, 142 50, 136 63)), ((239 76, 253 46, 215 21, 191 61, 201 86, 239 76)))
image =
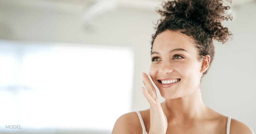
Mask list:
POLYGON ((0 132, 111 133, 131 111, 133 55, 127 47, 0 40, 0 132))

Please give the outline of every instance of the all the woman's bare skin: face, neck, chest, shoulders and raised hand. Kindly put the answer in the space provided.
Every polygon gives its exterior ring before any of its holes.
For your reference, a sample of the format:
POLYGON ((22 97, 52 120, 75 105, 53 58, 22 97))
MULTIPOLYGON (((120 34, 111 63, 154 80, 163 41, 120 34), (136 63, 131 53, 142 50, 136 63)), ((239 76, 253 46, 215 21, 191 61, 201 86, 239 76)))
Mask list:
MULTIPOLYGON (((151 58, 157 58, 150 66, 150 77, 165 101, 159 102, 151 80, 145 73, 142 73, 142 81, 146 87, 142 87, 142 92, 150 103, 149 109, 139 111, 146 131, 149 134, 226 134, 227 116, 210 109, 201 99, 201 72, 208 69, 210 56, 206 55, 201 62, 198 61, 197 51, 191 39, 185 34, 170 30, 157 35, 152 52, 159 54, 151 55, 151 58), (176 48, 183 48, 188 52, 169 53, 170 50, 176 48), (174 56, 175 54, 182 57, 174 56), (172 87, 163 88, 157 81, 160 78, 181 80, 172 87)), ((126 113, 116 120, 112 134, 119 133, 142 134, 142 126, 136 112, 126 113)), ((246 124, 231 118, 230 134, 240 133, 252 134, 253 132, 246 124)))

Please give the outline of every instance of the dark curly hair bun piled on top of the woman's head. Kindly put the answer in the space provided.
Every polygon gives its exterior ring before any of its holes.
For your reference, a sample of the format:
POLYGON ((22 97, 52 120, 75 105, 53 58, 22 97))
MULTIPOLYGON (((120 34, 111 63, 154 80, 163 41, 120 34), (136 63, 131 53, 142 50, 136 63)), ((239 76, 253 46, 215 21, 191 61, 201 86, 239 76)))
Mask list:
MULTIPOLYGON (((231 0, 226 1, 231 3, 231 0)), ((163 8, 158 8, 157 12, 164 17, 160 19, 161 21, 166 18, 187 21, 191 26, 201 26, 212 39, 225 43, 232 34, 220 22, 232 20, 233 17, 227 12, 230 7, 223 6, 222 2, 222 0, 163 1, 163 8)))

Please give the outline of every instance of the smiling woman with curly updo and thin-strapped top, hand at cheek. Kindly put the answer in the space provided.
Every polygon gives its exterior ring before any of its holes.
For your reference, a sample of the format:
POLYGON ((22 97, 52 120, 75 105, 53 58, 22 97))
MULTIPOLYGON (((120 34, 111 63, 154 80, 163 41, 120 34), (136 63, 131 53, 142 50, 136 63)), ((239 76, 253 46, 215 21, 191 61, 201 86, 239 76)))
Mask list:
POLYGON ((220 23, 230 18, 229 8, 219 0, 163 2, 157 10, 163 18, 152 35, 150 77, 165 101, 159 102, 148 74, 142 73, 150 109, 120 116, 112 134, 253 133, 201 99, 201 77, 214 59, 213 39, 225 43, 232 35, 220 23))

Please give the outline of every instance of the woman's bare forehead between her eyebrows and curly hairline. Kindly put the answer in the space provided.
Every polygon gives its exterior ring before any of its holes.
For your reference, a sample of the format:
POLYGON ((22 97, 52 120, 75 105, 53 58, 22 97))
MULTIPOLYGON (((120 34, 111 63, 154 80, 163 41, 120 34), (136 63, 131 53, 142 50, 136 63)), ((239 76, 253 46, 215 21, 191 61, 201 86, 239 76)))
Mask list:
POLYGON ((191 39, 186 34, 180 33, 179 31, 166 30, 156 36, 152 52, 167 52, 175 48, 183 48, 188 53, 195 51, 191 39))

